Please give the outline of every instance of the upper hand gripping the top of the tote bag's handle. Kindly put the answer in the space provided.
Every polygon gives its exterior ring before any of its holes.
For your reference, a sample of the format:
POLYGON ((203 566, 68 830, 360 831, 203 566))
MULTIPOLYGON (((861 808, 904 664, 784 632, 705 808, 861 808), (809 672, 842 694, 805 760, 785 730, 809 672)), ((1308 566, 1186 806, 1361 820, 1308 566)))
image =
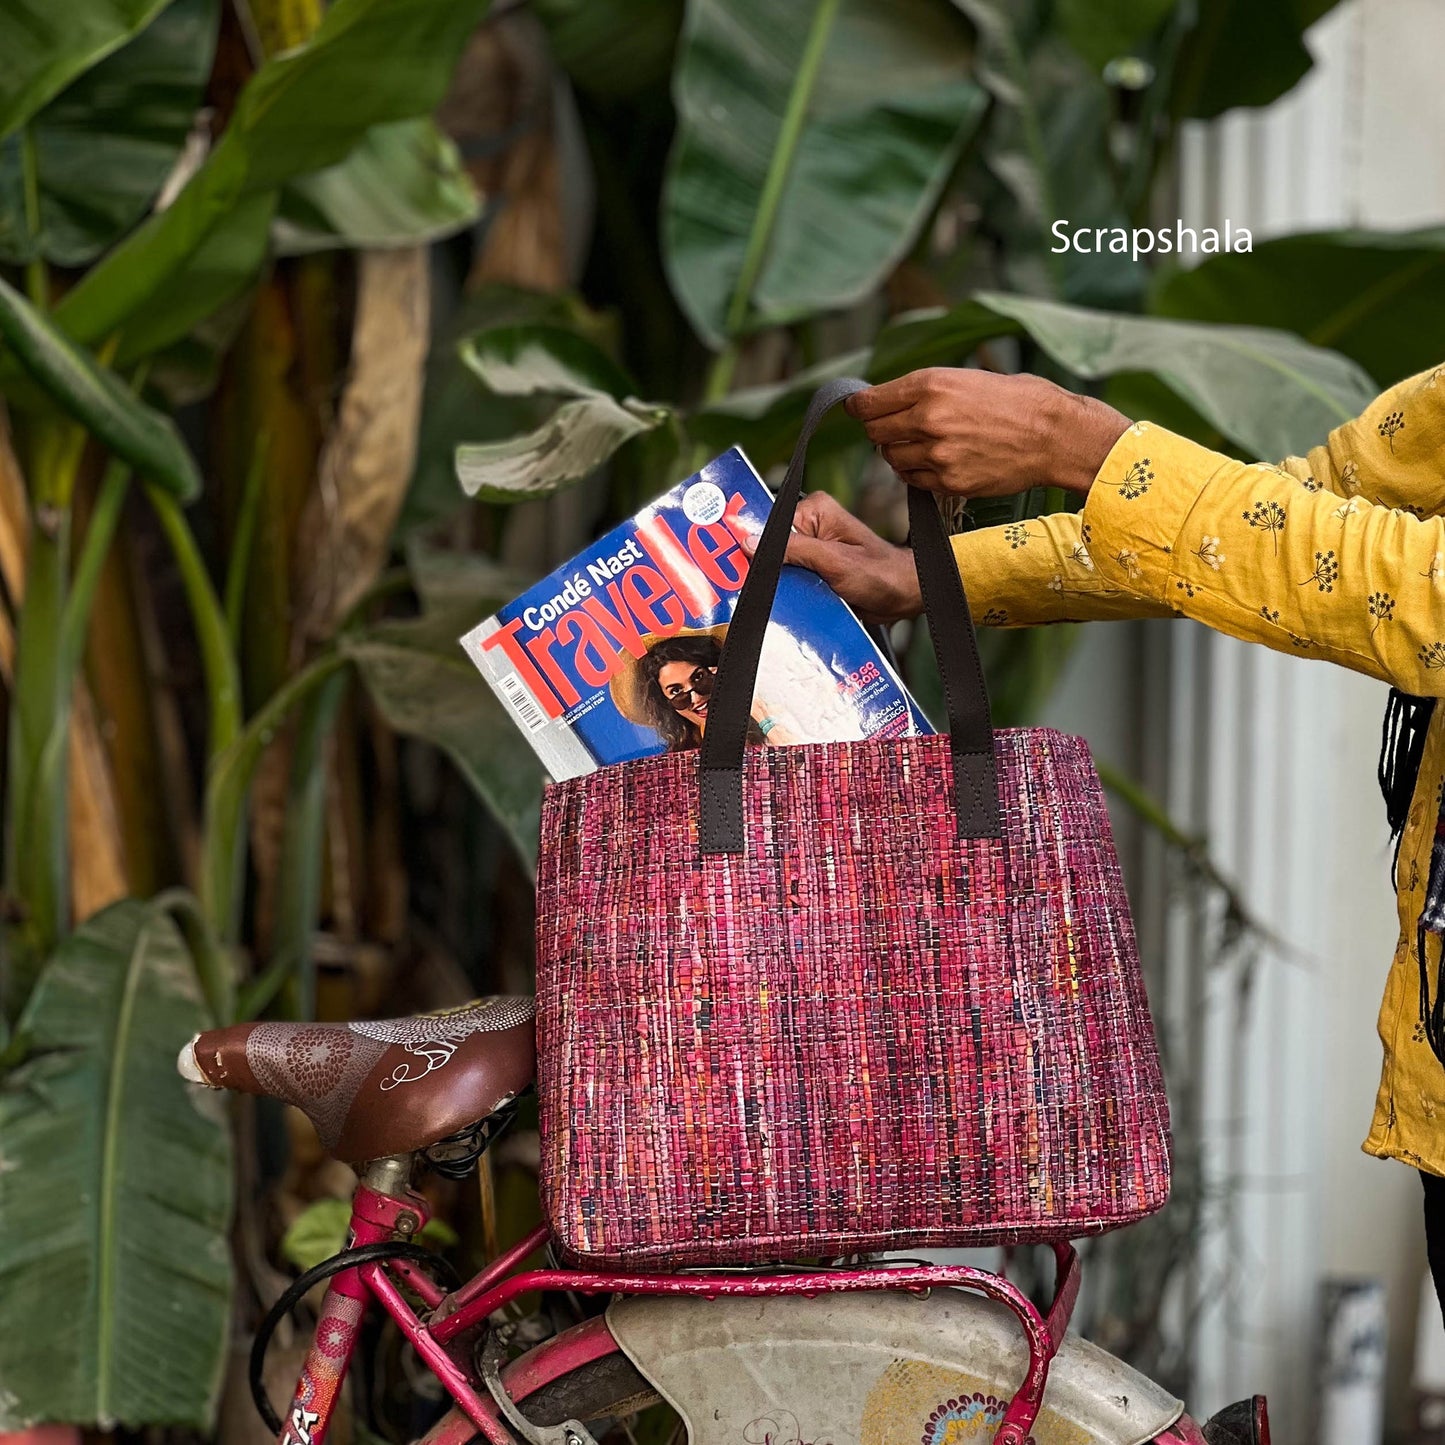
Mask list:
POLYGON ((1007 497, 1087 493, 1129 418, 1038 376, 926 367, 857 392, 848 413, 912 487, 1007 497))

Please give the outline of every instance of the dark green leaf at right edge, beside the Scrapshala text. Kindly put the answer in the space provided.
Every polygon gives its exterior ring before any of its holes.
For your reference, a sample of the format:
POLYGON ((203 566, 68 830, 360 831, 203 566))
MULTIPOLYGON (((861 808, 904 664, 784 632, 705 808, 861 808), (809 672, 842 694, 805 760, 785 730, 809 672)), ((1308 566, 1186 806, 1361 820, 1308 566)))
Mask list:
POLYGON ((1293 331, 1389 384, 1445 361, 1445 228, 1282 236, 1166 276, 1150 311, 1293 331))

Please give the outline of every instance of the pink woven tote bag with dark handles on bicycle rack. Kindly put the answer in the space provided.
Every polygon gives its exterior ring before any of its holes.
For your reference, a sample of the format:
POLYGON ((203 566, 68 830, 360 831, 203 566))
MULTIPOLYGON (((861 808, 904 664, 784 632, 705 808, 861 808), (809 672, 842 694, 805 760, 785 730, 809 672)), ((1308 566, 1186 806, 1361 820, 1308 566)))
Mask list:
POLYGON ((1088 747, 993 731, 933 499, 912 545, 949 734, 746 747, 808 439, 702 747, 546 790, 542 1198, 574 1261, 665 1269, 1095 1234, 1169 1118, 1088 747))

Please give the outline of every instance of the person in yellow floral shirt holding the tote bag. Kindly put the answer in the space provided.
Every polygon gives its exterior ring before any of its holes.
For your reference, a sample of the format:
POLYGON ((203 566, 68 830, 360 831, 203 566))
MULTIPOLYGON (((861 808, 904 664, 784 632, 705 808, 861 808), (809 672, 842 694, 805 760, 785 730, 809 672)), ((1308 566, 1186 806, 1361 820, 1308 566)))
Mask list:
MULTIPOLYGON (((1033 376, 935 367, 847 405, 910 486, 987 497, 1052 484, 1084 497, 1077 513, 954 538, 980 623, 1192 617, 1390 683, 1379 772, 1399 936, 1364 1149, 1420 1170, 1445 1305, 1445 366, 1277 465, 1131 423, 1033 376)), ((907 548, 827 493, 803 499, 795 530, 788 561, 866 618, 922 610, 907 548)))

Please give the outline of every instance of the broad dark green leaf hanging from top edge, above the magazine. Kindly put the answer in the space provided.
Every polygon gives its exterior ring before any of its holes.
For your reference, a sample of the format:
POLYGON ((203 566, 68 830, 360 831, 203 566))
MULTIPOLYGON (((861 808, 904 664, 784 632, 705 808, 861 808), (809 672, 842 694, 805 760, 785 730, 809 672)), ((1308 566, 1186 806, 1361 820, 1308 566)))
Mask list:
POLYGON ((689 0, 673 95, 663 251, 712 344, 871 292, 984 110, 945 0, 689 0))

